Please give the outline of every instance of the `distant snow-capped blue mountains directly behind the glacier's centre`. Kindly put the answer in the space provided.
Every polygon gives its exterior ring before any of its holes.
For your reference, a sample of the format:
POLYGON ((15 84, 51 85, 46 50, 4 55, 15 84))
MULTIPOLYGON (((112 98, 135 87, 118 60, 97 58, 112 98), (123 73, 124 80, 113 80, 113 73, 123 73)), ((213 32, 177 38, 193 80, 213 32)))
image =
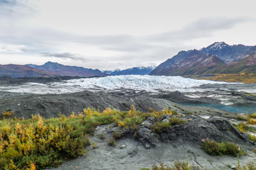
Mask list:
POLYGON ((147 75, 149 74, 153 69, 155 69, 156 66, 148 66, 148 67, 132 67, 129 69, 114 69, 114 70, 105 70, 103 71, 105 74, 108 74, 110 76, 117 76, 117 75, 147 75))

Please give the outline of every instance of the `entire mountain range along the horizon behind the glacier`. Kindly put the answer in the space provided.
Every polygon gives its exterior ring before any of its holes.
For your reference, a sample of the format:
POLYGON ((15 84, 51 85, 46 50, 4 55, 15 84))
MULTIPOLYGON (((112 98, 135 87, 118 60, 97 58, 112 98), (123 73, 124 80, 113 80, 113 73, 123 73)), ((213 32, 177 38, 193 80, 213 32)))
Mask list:
POLYGON ((36 64, 0 64, 0 76, 9 77, 105 77, 115 75, 195 76, 201 74, 256 74, 256 46, 214 42, 201 50, 178 52, 158 67, 132 67, 100 71, 68 66, 57 62, 36 64))

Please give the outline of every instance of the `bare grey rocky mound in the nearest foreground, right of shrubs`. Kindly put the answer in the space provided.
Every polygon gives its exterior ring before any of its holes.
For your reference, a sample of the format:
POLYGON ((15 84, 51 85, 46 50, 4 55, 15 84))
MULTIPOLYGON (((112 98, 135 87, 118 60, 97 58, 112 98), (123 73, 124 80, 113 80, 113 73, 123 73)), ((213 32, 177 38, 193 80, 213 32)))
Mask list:
MULTIPOLYGON (((164 115, 162 121, 173 115, 164 115)), ((239 132, 224 118, 201 118, 201 116, 181 116, 188 120, 186 125, 174 125, 159 133, 152 131, 156 121, 147 118, 133 132, 130 128, 102 125, 97 128, 90 142, 95 147, 87 147, 87 155, 65 162, 55 169, 142 169, 151 168, 154 164, 174 164, 175 161, 188 161, 189 164, 206 169, 235 169, 239 164, 245 165, 255 161, 252 152, 255 143, 245 133, 239 132), (120 139, 114 147, 108 145, 107 139, 113 132, 120 133, 120 139), (105 139, 100 139, 102 134, 105 139), (217 142, 223 140, 234 142, 245 149, 246 156, 210 156, 201 149, 203 139, 209 138, 217 142)))

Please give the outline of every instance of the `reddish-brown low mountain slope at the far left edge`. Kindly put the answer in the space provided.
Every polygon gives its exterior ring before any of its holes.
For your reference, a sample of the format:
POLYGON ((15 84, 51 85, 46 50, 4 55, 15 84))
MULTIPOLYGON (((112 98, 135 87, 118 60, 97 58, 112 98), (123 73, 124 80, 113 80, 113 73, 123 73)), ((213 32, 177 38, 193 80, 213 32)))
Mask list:
POLYGON ((58 77, 60 74, 34 69, 26 65, 6 64, 0 65, 0 76, 8 77, 58 77))

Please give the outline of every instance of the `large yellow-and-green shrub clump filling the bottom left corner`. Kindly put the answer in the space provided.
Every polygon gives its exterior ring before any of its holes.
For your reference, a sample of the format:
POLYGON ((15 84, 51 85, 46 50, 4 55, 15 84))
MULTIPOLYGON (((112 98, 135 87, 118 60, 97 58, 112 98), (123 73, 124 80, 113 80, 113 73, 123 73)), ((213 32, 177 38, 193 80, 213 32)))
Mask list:
POLYGON ((26 121, 1 120, 0 169, 43 169, 60 164, 63 157, 85 154, 89 138, 84 132, 79 118, 44 120, 33 115, 26 121))

